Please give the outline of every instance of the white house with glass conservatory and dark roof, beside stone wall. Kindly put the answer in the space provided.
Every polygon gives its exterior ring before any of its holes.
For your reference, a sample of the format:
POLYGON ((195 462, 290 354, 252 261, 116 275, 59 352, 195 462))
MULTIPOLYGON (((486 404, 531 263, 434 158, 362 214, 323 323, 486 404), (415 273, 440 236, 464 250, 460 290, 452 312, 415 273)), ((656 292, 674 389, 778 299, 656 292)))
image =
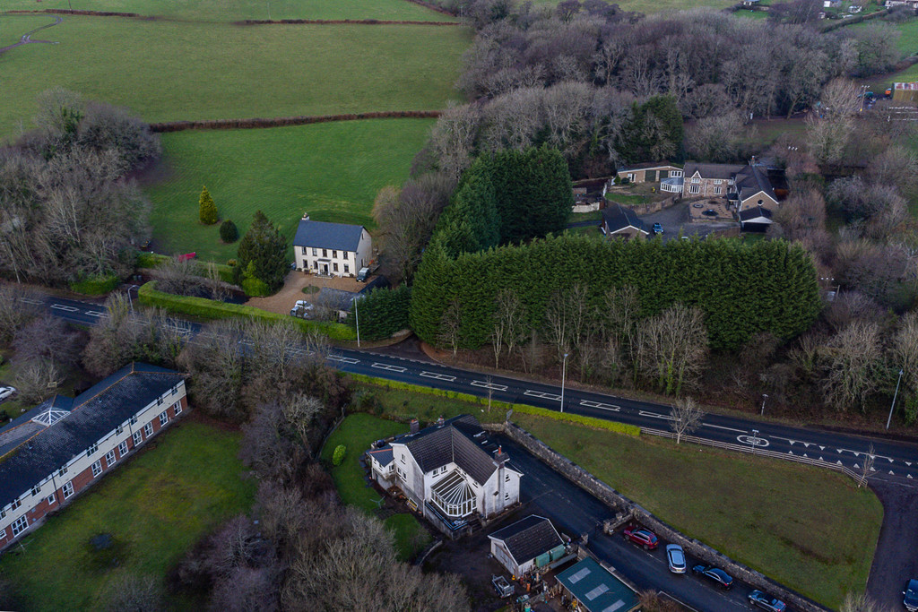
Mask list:
POLYGON ((522 473, 469 415, 420 429, 367 453, 375 481, 397 487, 438 529, 457 537, 520 501, 522 473))

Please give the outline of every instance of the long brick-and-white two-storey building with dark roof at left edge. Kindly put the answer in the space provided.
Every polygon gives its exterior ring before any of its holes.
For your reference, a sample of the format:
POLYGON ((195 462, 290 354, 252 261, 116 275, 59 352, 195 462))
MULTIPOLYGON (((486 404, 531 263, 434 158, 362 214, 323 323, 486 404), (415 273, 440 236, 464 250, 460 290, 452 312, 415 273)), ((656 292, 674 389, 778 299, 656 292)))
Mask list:
POLYGON ((0 550, 187 412, 185 377, 130 363, 0 428, 0 550))

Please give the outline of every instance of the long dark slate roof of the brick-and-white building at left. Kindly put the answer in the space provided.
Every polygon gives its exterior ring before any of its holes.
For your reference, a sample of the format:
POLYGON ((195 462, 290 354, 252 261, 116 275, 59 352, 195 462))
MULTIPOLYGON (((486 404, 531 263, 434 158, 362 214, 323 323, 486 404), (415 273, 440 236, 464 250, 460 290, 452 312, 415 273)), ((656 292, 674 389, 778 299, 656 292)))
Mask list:
MULTIPOLYGON (((7 444, 10 448, 0 457, 0 507, 28 492, 183 378, 180 373, 155 365, 131 363, 73 398, 70 414, 60 421, 50 427, 32 428, 30 437, 20 439, 16 445, 7 444)), ((13 428, 30 427, 23 417, 34 418, 50 404, 66 406, 65 399, 55 397, 29 410, 0 429, 0 439, 12 435, 13 428)))

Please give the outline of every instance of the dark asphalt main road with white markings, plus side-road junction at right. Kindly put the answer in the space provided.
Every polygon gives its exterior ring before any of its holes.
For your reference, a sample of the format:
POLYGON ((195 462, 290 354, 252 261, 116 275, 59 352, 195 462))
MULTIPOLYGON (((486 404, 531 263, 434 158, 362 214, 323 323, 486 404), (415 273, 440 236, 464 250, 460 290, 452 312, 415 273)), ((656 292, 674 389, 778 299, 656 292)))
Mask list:
MULTIPOLYGON (((106 317, 99 304, 46 298, 50 312, 73 323, 95 325, 106 317)), ((648 433, 666 434, 670 406, 614 395, 543 384, 509 376, 486 375, 422 359, 384 354, 379 351, 335 349, 328 356, 342 372, 361 373, 387 380, 485 397, 495 400, 561 409, 564 393, 566 412, 605 418, 644 428, 648 433)), ((735 451, 767 453, 773 457, 812 462, 823 467, 858 473, 873 448, 874 467, 869 479, 881 499, 898 500, 887 508, 879 547, 869 582, 869 593, 889 601, 898 599, 901 585, 918 572, 913 551, 918 549, 918 446, 894 440, 869 439, 851 433, 792 427, 743 417, 709 414, 693 436, 707 443, 735 451), (902 501, 906 500, 906 501, 902 501), (911 526, 900 529, 901 526, 911 526)), ((533 479, 534 480, 534 479, 533 479)))

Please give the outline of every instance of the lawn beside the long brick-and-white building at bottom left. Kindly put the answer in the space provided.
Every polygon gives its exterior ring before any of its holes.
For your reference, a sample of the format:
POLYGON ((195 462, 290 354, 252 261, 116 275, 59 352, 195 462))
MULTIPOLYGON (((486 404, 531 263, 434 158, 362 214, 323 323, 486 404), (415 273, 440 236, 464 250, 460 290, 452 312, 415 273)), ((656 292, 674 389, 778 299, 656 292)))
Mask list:
POLYGON ((122 574, 162 580, 209 529, 252 505, 239 444, 238 433, 176 423, 50 517, 24 540, 25 552, 0 558, 0 575, 16 585, 25 609, 49 612, 99 609, 100 594, 122 574), (102 533, 116 542, 117 568, 95 569, 101 555, 89 540, 102 533))

